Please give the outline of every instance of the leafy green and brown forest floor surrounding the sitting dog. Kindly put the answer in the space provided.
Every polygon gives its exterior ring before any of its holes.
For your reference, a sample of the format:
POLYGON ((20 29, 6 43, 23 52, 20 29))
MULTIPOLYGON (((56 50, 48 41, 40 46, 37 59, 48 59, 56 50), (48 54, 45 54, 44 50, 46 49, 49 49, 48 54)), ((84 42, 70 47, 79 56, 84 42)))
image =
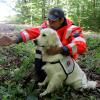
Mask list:
MULTIPOLYGON (((28 25, 0 24, 0 34, 16 34, 28 25)), ((84 32, 88 50, 78 63, 88 79, 100 81, 100 34, 84 32), (92 33, 92 34, 91 34, 92 33)), ((0 100, 100 100, 100 89, 79 92, 66 87, 45 98, 37 99, 34 80, 29 80, 34 60, 34 44, 28 42, 0 47, 0 100), (28 76, 28 78, 27 78, 28 76)))

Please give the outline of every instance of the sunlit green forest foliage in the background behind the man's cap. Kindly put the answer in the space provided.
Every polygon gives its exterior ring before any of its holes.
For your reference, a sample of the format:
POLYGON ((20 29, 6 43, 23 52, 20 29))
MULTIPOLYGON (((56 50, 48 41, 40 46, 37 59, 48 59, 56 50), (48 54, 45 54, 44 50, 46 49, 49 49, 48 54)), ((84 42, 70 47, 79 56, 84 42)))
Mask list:
POLYGON ((41 24, 52 7, 61 7, 65 15, 86 30, 100 31, 100 0, 18 0, 16 22, 41 24))

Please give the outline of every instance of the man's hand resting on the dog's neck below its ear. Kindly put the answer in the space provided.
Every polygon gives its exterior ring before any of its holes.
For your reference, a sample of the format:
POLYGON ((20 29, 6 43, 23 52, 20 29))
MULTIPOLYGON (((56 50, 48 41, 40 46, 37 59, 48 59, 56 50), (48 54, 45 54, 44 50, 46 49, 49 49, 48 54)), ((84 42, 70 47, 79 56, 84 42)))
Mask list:
POLYGON ((62 52, 62 48, 57 46, 51 46, 49 49, 46 50, 46 53, 48 55, 56 55, 56 54, 60 54, 61 52, 62 52))

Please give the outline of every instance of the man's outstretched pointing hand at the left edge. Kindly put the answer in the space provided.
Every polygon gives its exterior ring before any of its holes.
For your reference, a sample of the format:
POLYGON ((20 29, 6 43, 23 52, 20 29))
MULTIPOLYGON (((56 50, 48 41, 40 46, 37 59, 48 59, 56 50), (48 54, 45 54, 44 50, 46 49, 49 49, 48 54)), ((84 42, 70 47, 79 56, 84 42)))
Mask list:
POLYGON ((15 43, 15 37, 2 35, 0 36, 0 46, 8 46, 15 43))

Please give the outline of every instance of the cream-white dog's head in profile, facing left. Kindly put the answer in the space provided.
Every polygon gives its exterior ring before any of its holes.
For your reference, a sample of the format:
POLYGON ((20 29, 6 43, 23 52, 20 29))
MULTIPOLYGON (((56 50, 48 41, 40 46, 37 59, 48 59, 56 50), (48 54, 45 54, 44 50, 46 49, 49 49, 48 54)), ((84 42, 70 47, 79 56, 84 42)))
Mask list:
POLYGON ((35 44, 46 48, 50 46, 62 46, 57 32, 51 28, 42 29, 40 36, 35 40, 35 44))

